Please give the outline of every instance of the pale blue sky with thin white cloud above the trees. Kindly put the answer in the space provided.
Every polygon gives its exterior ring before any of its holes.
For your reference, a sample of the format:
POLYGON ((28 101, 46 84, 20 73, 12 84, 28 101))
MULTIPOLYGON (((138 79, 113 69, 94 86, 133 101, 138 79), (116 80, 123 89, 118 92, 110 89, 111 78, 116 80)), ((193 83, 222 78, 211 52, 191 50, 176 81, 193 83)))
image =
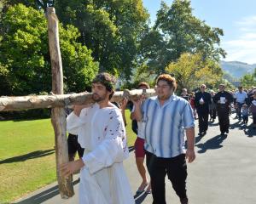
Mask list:
MULTIPOLYGON (((151 23, 156 19, 161 0, 143 0, 151 23)), ((172 0, 165 0, 168 6, 172 0)), ((220 47, 225 61, 256 64, 256 0, 191 0, 193 14, 211 27, 224 30, 220 47)))

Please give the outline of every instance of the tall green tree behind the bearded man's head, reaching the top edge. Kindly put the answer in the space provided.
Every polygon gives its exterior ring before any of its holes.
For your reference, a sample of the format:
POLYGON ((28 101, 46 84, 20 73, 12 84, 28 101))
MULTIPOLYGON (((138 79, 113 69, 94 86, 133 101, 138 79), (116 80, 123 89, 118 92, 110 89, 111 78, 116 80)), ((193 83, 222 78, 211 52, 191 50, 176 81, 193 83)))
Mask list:
POLYGON ((79 28, 79 40, 92 50, 100 71, 130 78, 149 17, 142 0, 56 0, 55 8, 64 25, 79 28))

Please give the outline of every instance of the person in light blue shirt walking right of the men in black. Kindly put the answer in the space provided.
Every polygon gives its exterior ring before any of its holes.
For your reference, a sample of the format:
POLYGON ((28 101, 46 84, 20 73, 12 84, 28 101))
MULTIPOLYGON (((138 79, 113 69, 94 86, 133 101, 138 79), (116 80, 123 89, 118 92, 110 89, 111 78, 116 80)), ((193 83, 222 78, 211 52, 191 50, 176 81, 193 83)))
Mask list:
POLYGON ((247 102, 246 100, 247 93, 243 90, 241 86, 238 87, 238 91, 234 95, 234 104, 236 107, 236 116, 238 117, 239 121, 241 121, 241 107, 247 102))

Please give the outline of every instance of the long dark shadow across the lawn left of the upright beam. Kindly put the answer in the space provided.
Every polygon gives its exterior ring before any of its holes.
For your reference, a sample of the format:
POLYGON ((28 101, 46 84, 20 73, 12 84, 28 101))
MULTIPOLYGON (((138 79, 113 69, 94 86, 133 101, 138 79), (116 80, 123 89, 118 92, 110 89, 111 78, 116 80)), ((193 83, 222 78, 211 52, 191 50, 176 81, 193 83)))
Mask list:
POLYGON ((38 158, 38 157, 49 156, 49 155, 54 154, 54 153, 55 153, 55 149, 52 149, 52 150, 36 150, 36 151, 32 151, 32 152, 30 152, 26 155, 14 156, 14 157, 2 160, 2 161, 0 161, 0 164, 26 161, 26 160, 35 159, 35 158, 38 158))

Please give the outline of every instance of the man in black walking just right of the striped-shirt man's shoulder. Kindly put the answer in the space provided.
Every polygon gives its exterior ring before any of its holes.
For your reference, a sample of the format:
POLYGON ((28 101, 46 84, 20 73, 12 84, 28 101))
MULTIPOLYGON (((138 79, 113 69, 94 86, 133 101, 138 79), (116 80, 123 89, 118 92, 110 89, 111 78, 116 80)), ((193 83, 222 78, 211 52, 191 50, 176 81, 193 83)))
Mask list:
POLYGON ((199 135, 207 134, 209 105, 212 104, 211 94, 206 92, 207 86, 201 84, 200 91, 195 94, 195 109, 198 115, 199 135))

